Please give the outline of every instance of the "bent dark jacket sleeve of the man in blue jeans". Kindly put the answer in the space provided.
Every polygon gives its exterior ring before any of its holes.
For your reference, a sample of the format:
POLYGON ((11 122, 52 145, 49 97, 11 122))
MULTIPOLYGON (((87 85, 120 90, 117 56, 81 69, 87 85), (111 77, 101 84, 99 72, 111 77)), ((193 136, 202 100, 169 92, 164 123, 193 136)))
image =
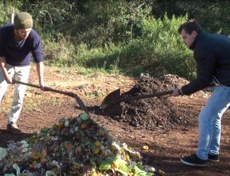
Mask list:
POLYGON ((197 77, 181 88, 184 95, 193 94, 209 86, 213 80, 215 56, 212 53, 194 53, 197 63, 197 77))

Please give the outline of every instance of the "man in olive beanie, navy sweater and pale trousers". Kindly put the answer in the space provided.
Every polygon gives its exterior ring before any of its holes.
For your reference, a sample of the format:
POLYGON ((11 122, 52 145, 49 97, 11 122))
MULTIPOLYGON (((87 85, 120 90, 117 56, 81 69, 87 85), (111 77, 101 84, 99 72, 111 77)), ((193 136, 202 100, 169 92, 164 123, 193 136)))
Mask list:
MULTIPOLYGON (((20 12, 15 15, 14 24, 7 24, 0 28, 0 103, 9 84, 14 84, 14 79, 28 82, 31 61, 36 63, 39 84, 43 89, 45 83, 41 40, 33 29, 31 15, 20 12)), ((7 129, 15 133, 21 132, 16 122, 22 110, 25 92, 25 85, 14 84, 14 97, 7 129)))

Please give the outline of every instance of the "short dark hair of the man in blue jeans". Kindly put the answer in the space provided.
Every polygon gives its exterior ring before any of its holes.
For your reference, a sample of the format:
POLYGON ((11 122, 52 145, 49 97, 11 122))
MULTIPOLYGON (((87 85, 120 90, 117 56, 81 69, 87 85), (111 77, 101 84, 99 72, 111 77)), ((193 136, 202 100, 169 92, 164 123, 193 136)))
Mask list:
POLYGON ((178 33, 180 34, 182 30, 185 30, 188 34, 191 34, 192 31, 196 31, 197 33, 200 33, 203 31, 203 28, 199 24, 199 22, 196 19, 191 19, 183 24, 180 25, 178 28, 178 33))

